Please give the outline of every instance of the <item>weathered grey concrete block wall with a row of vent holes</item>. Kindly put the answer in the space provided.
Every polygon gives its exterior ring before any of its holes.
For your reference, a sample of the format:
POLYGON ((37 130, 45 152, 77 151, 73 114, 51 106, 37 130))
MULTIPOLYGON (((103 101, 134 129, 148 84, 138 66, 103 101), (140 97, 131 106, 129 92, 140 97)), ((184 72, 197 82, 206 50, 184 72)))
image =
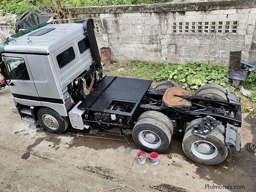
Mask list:
POLYGON ((71 8, 75 20, 93 18, 100 47, 112 60, 229 64, 229 54, 256 63, 256 1, 233 0, 71 8))

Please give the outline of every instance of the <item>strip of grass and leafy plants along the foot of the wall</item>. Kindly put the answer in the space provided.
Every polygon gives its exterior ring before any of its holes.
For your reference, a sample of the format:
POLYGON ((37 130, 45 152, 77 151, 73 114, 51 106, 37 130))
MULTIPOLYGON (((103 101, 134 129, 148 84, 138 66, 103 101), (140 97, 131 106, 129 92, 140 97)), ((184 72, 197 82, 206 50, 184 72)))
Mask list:
MULTIPOLYGON (((228 67, 220 66, 218 63, 206 64, 191 61, 188 65, 171 65, 167 62, 160 65, 152 62, 147 64, 136 61, 118 62, 106 67, 110 76, 145 78, 156 81, 173 80, 190 92, 194 92, 198 87, 207 83, 220 84, 226 89, 235 90, 231 86, 231 81, 226 77, 228 67), (120 70, 120 68, 123 68, 123 70, 120 70)), ((245 89, 254 91, 250 96, 245 97, 238 93, 239 88, 235 90, 242 103, 242 111, 249 112, 249 105, 256 108, 256 72, 252 72, 249 78, 242 81, 241 84, 245 89)), ((252 114, 256 114, 256 110, 252 114)))

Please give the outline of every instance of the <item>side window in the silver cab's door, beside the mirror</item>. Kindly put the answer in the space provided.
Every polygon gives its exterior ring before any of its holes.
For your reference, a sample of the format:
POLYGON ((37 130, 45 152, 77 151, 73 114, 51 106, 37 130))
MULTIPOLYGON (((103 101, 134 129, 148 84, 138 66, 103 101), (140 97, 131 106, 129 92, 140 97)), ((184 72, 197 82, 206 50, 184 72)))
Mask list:
POLYGON ((23 58, 4 57, 4 62, 11 79, 29 80, 28 69, 23 58))

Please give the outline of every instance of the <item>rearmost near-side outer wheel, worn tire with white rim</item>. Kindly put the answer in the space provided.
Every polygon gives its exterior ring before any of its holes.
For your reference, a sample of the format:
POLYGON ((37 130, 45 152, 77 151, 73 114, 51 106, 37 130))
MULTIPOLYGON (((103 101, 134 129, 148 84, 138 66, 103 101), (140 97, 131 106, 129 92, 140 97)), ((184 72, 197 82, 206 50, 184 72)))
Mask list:
POLYGON ((225 137, 217 130, 213 130, 206 138, 188 130, 184 135, 182 148, 190 159, 205 165, 219 164, 228 156, 225 137))

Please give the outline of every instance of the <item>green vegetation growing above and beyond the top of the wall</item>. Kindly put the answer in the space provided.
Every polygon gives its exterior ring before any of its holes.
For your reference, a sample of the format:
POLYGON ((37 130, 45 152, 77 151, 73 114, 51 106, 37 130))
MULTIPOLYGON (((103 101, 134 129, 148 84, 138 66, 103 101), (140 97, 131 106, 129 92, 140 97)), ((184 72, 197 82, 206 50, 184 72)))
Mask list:
POLYGON ((63 7, 80 7, 160 3, 166 0, 0 0, 0 9, 3 10, 3 15, 6 13, 21 15, 44 7, 54 7, 56 2, 60 2, 63 7))

